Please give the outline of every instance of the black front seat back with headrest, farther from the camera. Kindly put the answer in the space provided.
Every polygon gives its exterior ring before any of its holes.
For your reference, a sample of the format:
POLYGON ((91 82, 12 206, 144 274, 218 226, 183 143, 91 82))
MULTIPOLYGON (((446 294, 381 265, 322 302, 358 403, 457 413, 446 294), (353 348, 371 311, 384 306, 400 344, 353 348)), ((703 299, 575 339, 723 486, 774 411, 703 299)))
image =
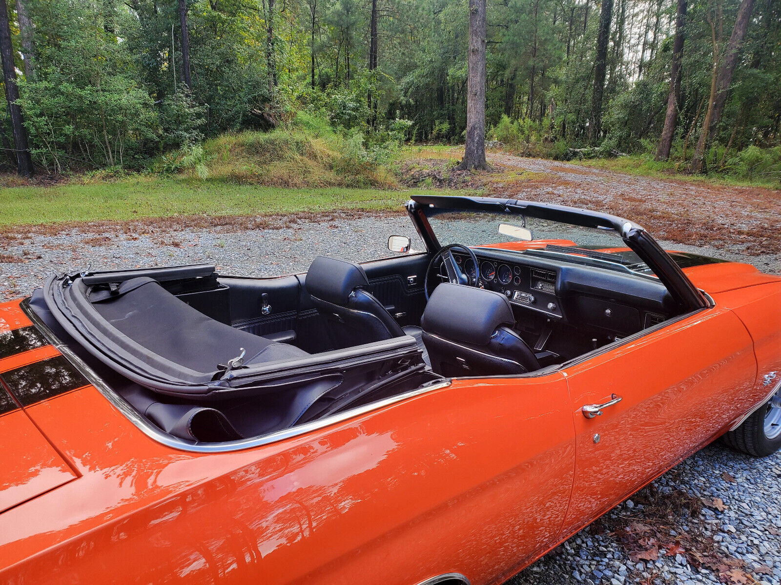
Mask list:
POLYGON ((306 289, 336 349, 405 335, 383 304, 369 293, 360 264, 317 257, 306 272, 306 289))

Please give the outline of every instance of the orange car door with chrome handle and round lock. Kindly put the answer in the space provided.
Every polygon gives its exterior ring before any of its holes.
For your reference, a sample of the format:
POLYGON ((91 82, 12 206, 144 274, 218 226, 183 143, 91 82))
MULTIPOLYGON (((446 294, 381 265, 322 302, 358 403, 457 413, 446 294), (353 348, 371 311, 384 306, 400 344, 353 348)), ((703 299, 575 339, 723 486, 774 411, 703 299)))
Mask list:
POLYGON ((726 431, 746 408, 742 395, 755 371, 746 329, 719 307, 640 332, 566 367, 577 456, 565 533, 726 431), (589 405, 605 406, 588 417, 583 406, 589 405))

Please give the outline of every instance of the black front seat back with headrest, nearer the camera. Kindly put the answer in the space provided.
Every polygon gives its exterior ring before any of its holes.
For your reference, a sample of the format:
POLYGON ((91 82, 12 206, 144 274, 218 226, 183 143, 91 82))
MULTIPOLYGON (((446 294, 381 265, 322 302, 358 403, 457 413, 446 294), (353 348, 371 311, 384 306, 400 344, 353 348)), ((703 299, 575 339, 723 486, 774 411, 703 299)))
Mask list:
POLYGON ((533 350, 512 331, 512 307, 499 293, 444 282, 434 289, 420 324, 437 374, 497 376, 540 368, 533 350))

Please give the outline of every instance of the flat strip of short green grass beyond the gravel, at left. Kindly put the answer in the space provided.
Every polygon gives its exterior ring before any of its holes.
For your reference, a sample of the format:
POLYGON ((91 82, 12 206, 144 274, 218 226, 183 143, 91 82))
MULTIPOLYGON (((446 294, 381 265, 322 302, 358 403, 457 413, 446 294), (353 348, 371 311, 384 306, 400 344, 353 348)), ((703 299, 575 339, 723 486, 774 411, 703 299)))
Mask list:
MULTIPOLYGON (((102 183, 0 189, 0 225, 160 218, 172 215, 269 215, 305 211, 400 209, 426 189, 280 188, 216 179, 136 176, 102 183)), ((443 193, 437 190, 437 193, 443 193)))

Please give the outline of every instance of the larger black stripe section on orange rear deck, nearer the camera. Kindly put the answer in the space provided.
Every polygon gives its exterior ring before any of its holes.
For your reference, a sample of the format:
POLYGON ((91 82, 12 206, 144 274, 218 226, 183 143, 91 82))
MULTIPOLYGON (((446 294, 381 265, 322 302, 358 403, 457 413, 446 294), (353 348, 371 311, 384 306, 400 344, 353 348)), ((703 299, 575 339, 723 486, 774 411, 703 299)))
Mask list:
POLYGON ((3 372, 0 377, 22 406, 30 406, 89 384, 87 378, 64 356, 30 363, 3 372))

